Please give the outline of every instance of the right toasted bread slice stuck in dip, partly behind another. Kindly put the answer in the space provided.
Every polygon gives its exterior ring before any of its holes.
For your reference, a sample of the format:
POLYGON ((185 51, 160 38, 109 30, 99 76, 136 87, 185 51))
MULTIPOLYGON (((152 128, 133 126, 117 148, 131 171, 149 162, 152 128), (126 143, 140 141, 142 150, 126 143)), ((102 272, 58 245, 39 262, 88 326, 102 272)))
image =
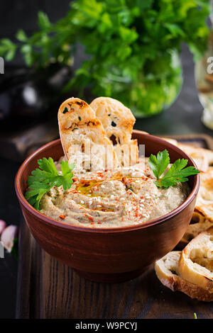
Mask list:
POLYGON ((136 121, 129 108, 114 98, 95 98, 90 106, 102 122, 107 137, 114 144, 121 165, 129 166, 138 162, 138 142, 131 139, 136 121))

